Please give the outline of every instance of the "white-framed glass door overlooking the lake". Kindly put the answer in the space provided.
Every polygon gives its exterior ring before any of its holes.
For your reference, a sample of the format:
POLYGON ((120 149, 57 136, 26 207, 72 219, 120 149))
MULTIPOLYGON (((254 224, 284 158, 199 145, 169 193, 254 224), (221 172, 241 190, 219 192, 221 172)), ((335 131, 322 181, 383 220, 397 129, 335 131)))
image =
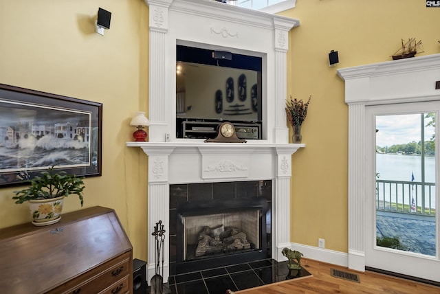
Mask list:
POLYGON ((440 281, 439 109, 439 102, 367 107, 367 267, 440 281))

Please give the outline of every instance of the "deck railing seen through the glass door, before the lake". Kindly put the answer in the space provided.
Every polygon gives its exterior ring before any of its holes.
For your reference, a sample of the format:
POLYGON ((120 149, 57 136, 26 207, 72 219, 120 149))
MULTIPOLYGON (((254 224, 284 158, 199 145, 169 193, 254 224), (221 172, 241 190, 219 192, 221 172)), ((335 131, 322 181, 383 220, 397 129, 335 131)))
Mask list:
POLYGON ((377 179, 376 209, 435 216, 435 183, 377 179))

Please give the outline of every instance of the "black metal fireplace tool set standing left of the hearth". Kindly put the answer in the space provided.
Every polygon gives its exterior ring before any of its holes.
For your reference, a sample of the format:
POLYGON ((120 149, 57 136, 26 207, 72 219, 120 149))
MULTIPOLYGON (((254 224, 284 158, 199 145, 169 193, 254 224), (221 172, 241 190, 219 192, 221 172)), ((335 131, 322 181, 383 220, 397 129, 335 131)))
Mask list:
POLYGON ((150 294, 162 294, 162 293, 170 293, 168 291, 164 292, 164 283, 163 283, 163 275, 164 275, 164 255, 162 254, 162 249, 164 248, 164 240, 165 240, 165 230, 164 225, 162 225, 162 220, 159 220, 154 227, 153 233, 151 235, 155 236, 156 247, 155 247, 155 275, 151 278, 151 288, 150 294), (162 254, 162 275, 160 271, 160 261, 162 254))

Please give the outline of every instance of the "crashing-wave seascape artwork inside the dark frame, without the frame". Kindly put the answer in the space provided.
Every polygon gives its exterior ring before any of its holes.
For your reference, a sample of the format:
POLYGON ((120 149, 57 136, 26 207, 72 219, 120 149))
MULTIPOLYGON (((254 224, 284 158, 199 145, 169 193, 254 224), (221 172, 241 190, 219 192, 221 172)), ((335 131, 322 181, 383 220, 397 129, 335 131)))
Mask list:
POLYGON ((0 173, 90 166, 91 115, 0 99, 0 173))

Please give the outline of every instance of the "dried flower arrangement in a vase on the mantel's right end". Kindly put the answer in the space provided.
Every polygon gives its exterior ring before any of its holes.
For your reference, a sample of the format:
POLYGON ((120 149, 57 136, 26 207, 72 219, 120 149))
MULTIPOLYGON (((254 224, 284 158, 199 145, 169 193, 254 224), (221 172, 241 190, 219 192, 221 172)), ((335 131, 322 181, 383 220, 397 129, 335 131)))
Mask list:
POLYGON ((289 119, 292 128, 294 129, 294 135, 292 136, 293 143, 301 143, 301 125, 307 116, 307 109, 309 108, 311 96, 306 103, 303 100, 292 99, 286 101, 286 114, 289 119))

